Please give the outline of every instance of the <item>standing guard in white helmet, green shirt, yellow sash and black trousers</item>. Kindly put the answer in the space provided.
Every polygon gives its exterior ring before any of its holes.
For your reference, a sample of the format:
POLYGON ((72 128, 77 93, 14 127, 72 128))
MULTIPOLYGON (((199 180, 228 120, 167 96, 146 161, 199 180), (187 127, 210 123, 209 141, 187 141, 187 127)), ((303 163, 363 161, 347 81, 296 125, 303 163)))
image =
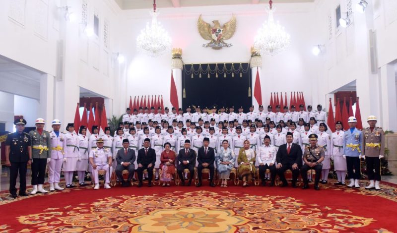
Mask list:
MULTIPOLYGON (((43 124, 45 121, 43 118, 36 119, 36 124, 43 124)), ((41 133, 35 129, 29 132, 32 142, 32 185, 33 191, 31 194, 35 194, 37 191, 41 193, 47 193, 43 189, 44 177, 46 174, 47 158, 50 158, 48 150, 51 148, 50 133, 42 129, 41 133)))

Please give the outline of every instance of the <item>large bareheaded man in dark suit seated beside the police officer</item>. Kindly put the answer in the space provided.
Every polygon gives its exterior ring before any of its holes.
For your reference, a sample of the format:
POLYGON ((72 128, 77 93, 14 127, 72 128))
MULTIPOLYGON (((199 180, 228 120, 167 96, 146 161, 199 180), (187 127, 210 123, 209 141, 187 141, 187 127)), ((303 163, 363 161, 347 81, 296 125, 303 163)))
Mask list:
POLYGON ((278 148, 276 162, 277 174, 282 181, 282 186, 288 186, 285 179, 284 172, 291 170, 292 172, 292 187, 296 188, 296 180, 299 176, 299 167, 302 164, 302 149, 298 144, 293 143, 293 134, 287 132, 287 143, 278 148))

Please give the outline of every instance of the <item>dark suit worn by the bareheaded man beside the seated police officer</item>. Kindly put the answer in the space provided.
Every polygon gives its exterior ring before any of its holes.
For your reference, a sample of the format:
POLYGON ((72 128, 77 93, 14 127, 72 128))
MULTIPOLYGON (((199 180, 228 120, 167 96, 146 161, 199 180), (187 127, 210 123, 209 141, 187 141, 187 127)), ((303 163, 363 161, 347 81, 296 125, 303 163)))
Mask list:
POLYGON ((302 165, 302 149, 298 144, 291 143, 291 150, 287 153, 287 144, 283 144, 278 148, 276 156, 277 164, 281 163, 282 167, 277 169, 278 176, 280 177, 283 184, 287 183, 284 172, 291 170, 292 172, 292 185, 296 184, 296 180, 299 176, 299 168, 302 165), (292 165, 298 165, 297 169, 292 169, 292 165))

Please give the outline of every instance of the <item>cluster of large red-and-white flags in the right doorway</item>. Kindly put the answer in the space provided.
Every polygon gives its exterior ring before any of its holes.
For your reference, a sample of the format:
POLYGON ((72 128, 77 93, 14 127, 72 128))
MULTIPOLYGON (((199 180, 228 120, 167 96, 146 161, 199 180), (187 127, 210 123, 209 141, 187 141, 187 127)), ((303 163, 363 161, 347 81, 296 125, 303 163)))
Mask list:
POLYGON ((332 103, 331 103, 331 98, 330 98, 330 108, 329 108, 329 112, 328 112, 327 125, 330 127, 332 132, 335 131, 335 122, 337 122, 337 121, 342 122, 344 130, 349 129, 349 124, 347 123, 347 119, 349 117, 356 117, 356 119, 357 119, 356 128, 363 129, 363 123, 361 120, 360 105, 358 103, 358 97, 356 100, 356 112, 354 114, 353 114, 352 106, 353 106, 353 98, 350 97, 348 110, 347 110, 347 105, 346 105, 346 98, 343 98, 343 106, 342 106, 342 109, 340 109, 340 101, 339 101, 339 98, 337 98, 336 99, 336 107, 335 107, 335 117, 333 117, 332 103))

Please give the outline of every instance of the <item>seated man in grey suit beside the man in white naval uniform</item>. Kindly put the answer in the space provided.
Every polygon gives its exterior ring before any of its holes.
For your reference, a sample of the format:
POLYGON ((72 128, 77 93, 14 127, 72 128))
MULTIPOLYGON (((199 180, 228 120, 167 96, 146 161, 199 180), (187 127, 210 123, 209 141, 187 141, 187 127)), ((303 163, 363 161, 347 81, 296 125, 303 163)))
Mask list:
POLYGON ((133 162, 135 162, 135 151, 130 148, 130 141, 128 139, 123 140, 123 149, 117 151, 116 161, 116 175, 119 180, 122 182, 123 187, 128 187, 131 185, 131 179, 133 177, 135 166, 133 162), (122 172, 124 170, 128 170, 130 173, 128 175, 128 180, 124 181, 122 172))

